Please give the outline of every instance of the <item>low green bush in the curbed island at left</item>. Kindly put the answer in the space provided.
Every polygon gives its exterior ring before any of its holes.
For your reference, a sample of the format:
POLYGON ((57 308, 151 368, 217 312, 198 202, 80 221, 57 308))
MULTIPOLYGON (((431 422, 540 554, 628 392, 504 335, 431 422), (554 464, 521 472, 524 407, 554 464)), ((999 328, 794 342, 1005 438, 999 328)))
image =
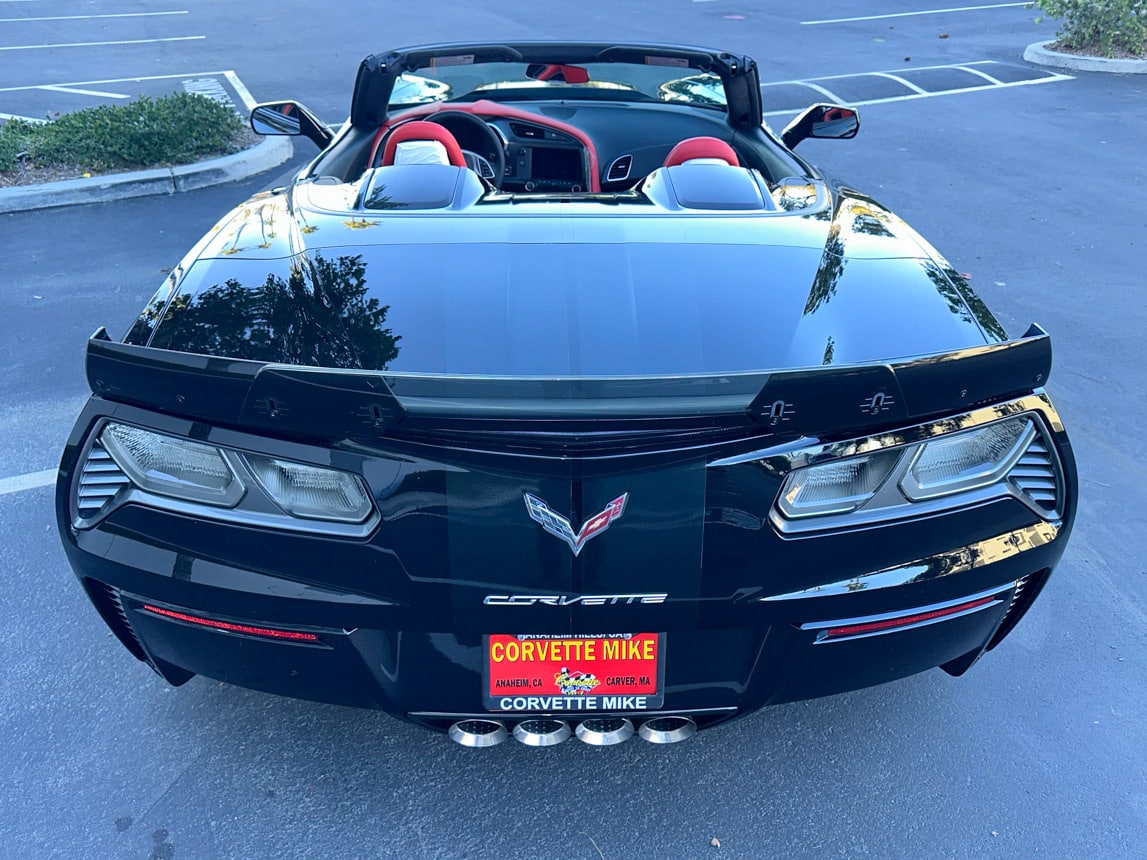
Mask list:
POLYGON ((192 93, 85 108, 50 123, 0 126, 0 170, 126 170, 187 164, 235 151, 243 120, 226 104, 192 93))

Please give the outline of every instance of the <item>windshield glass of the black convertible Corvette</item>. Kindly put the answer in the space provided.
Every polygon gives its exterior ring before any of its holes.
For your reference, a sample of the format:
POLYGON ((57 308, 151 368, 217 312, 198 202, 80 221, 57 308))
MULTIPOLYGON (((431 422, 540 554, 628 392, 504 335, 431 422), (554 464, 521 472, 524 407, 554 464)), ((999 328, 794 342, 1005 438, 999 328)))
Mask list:
POLYGON ((645 63, 476 63, 473 55, 434 57, 395 81, 390 104, 437 101, 582 99, 657 101, 725 110, 717 75, 690 69, 678 57, 647 56, 645 63))

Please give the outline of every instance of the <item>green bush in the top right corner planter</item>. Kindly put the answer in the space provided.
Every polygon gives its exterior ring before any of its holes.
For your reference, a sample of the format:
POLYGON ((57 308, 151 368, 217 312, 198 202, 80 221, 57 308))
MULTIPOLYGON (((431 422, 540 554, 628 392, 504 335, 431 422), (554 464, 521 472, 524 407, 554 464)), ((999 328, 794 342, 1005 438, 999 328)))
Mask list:
POLYGON ((1036 0, 1060 18, 1060 45, 1098 56, 1140 56, 1147 52, 1147 0, 1036 0))

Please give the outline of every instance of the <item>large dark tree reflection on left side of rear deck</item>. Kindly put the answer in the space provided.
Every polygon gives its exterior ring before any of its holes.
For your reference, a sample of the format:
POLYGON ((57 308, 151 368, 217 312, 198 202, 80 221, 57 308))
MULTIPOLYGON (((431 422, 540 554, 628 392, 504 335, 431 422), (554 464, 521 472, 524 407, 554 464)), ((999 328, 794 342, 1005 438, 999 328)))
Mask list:
POLYGON ((315 255, 258 287, 236 279, 181 294, 153 346, 310 367, 383 370, 398 357, 389 305, 367 297, 360 255, 315 255))

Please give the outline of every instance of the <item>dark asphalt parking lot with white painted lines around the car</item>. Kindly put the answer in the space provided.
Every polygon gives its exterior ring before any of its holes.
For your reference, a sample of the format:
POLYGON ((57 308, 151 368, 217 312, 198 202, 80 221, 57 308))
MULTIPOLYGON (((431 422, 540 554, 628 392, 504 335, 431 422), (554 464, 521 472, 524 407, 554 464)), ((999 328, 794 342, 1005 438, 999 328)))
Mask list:
POLYGON ((126 327, 164 271, 276 174, 0 216, 0 857, 1142 857, 1147 76, 1023 63, 1052 28, 1020 3, 919 14, 934 6, 954 5, 359 1, 315 21, 297 0, 0 0, 8 116, 229 71, 240 102, 297 97, 337 122, 361 55, 436 40, 751 54, 778 126, 821 89, 863 105, 856 140, 803 154, 969 273, 1013 336, 1031 321, 1051 331, 1048 390, 1082 478, 1044 596, 967 675, 779 706, 684 744, 474 751, 373 712, 202 678, 169 689, 76 584, 50 470, 86 397, 88 334, 126 327))

